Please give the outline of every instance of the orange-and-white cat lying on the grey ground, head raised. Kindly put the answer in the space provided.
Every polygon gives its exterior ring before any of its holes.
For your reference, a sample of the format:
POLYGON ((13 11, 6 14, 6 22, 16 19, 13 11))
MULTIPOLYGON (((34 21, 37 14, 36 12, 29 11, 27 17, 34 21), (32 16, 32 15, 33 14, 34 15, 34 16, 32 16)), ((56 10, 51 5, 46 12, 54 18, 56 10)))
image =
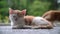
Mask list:
POLYGON ((9 18, 12 28, 23 28, 25 25, 30 28, 52 28, 52 24, 42 17, 25 16, 26 10, 9 9, 9 18))

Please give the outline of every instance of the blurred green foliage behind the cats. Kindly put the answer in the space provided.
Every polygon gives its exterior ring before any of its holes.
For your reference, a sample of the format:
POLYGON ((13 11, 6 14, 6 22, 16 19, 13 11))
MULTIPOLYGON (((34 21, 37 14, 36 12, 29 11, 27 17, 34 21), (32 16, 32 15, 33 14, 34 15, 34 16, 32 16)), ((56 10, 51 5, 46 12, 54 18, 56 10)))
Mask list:
POLYGON ((9 8, 27 10, 27 15, 42 16, 48 10, 60 9, 60 0, 0 0, 0 23, 9 23, 9 8))

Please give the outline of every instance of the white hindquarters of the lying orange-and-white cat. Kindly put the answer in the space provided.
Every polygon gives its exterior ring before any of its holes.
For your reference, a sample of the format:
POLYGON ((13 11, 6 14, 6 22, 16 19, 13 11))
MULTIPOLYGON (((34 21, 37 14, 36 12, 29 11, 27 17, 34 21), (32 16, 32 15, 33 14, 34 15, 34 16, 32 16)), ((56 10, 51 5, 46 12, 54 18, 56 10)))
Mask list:
POLYGON ((42 17, 34 17, 32 21, 33 26, 39 26, 40 28, 53 28, 51 22, 42 17))

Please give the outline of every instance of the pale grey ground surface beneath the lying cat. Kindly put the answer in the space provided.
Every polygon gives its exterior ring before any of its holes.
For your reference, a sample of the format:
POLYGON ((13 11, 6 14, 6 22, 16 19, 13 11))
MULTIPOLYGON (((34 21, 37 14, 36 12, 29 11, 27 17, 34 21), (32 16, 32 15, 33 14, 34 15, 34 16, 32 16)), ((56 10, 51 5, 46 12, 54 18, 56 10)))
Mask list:
POLYGON ((0 34, 60 34, 60 27, 53 29, 12 29, 11 26, 0 26, 0 34))

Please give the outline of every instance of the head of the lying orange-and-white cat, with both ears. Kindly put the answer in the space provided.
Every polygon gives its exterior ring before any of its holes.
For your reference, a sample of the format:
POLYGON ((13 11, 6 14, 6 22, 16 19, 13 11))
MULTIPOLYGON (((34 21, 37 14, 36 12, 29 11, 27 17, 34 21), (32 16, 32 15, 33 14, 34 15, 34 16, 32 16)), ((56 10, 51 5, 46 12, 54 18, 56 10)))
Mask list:
POLYGON ((26 10, 20 11, 9 8, 9 18, 11 21, 13 20, 17 21, 19 18, 24 17, 25 14, 26 14, 26 10))

